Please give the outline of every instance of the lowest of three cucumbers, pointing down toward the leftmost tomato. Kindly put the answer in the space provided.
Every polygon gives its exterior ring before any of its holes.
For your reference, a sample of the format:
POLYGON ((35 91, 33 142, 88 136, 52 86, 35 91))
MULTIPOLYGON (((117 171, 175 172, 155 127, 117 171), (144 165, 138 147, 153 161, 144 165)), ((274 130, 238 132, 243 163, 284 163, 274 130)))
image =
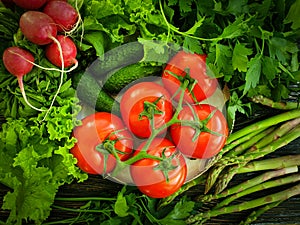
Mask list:
POLYGON ((106 93, 99 83, 87 72, 73 74, 72 84, 76 89, 77 97, 87 105, 95 107, 99 112, 120 114, 119 103, 106 93))

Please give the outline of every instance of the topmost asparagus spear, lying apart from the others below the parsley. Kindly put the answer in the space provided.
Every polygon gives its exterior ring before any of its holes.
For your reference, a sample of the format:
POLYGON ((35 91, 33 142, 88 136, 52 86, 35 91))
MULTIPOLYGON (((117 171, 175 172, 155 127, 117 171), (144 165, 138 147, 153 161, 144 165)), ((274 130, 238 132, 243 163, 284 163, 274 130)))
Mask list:
POLYGON ((264 97, 263 95, 254 96, 251 101, 259 103, 274 109, 291 110, 299 109, 299 102, 275 102, 272 99, 264 97))

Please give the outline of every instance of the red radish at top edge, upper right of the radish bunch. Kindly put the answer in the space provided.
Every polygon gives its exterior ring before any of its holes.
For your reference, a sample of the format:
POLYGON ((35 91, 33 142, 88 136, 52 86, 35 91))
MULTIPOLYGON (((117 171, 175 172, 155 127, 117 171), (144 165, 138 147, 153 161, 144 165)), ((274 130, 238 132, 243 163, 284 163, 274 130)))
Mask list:
POLYGON ((57 25, 58 31, 69 31, 78 20, 78 12, 65 1, 49 1, 43 10, 57 25))

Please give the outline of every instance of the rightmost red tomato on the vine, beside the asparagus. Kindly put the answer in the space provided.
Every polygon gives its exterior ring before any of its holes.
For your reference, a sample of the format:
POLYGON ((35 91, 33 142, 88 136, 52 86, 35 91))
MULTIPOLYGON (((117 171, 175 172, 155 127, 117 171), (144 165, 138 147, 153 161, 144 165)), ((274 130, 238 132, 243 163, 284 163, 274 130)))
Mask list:
POLYGON ((228 136, 227 121, 212 105, 184 106, 180 123, 170 127, 172 140, 190 158, 211 158, 224 146, 228 136))

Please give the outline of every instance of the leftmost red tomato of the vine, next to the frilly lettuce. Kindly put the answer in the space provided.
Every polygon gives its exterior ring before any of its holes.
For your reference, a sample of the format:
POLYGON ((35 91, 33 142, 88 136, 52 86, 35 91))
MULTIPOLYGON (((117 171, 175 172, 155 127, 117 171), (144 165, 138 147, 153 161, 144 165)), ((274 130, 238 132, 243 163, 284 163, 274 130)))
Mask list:
POLYGON ((76 127, 73 136, 77 143, 71 153, 77 158, 77 166, 90 174, 111 172, 116 159, 108 151, 98 151, 97 146, 109 149, 114 146, 121 160, 130 157, 133 148, 133 137, 125 129, 122 120, 111 113, 96 112, 85 117, 82 125, 76 127))

